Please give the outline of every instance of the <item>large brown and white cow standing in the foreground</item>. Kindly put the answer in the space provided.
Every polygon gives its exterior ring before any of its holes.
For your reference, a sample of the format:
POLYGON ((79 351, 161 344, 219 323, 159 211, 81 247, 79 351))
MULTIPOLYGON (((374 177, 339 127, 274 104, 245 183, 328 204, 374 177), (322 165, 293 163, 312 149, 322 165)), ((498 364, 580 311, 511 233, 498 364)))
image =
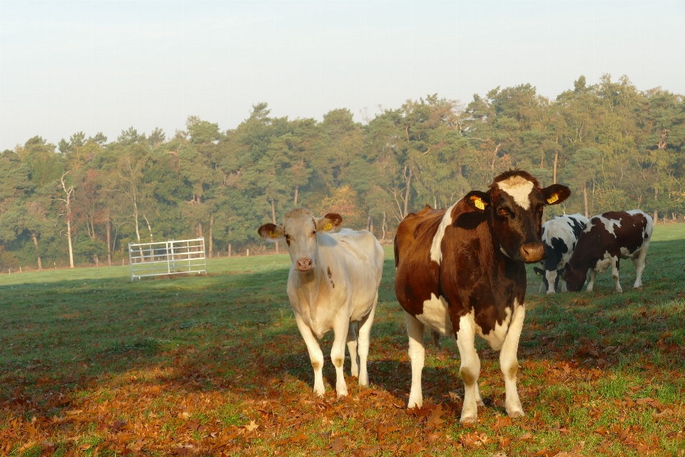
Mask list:
POLYGON ((542 210, 571 194, 559 184, 544 189, 525 171, 497 176, 489 191, 471 191, 447 210, 427 206, 408 215, 395 237, 395 293, 405 309, 412 362, 409 408, 423 403, 423 333, 457 338, 465 385, 461 421, 475 422, 480 360, 479 335, 494 350, 511 417, 523 416, 516 388, 517 348, 525 315, 525 263, 544 258, 542 210))

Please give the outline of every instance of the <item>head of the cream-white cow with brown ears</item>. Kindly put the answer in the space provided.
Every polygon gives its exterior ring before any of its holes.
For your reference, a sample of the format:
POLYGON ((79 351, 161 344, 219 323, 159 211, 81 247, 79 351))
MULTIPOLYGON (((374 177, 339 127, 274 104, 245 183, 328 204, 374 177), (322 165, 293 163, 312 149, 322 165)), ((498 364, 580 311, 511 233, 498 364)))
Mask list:
POLYGON ((329 213, 315 218, 311 211, 296 208, 283 217, 283 224, 264 224, 258 229, 262 238, 269 241, 285 241, 288 253, 297 271, 310 271, 316 267, 318 254, 317 233, 332 233, 340 230, 342 217, 329 213))

